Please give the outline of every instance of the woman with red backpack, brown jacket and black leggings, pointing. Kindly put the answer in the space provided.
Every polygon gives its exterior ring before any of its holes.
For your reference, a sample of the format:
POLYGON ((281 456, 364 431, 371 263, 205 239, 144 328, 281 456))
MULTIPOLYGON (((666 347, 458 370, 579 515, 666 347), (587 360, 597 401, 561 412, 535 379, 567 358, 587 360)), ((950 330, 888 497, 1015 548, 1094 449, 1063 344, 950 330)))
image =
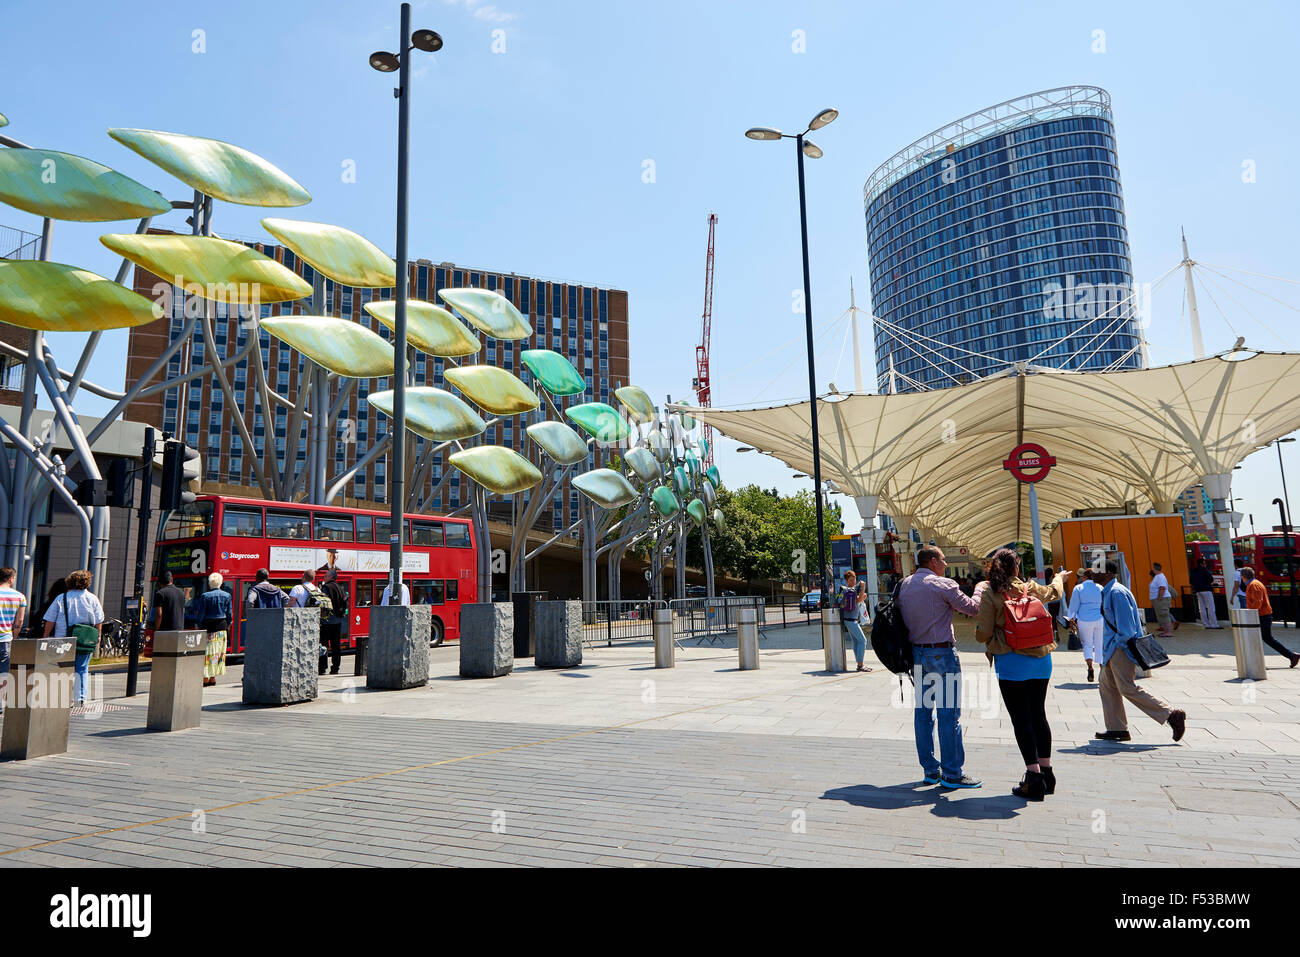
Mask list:
POLYGON ((998 549, 989 563, 988 588, 975 619, 975 640, 984 645, 997 672, 997 687, 1011 719, 1015 744, 1024 761, 1024 778, 1011 793, 1041 801, 1056 792, 1052 770, 1052 727, 1048 724, 1048 681, 1056 650, 1056 620, 1043 607, 1060 602, 1070 572, 1057 572, 1050 585, 1020 577, 1020 557, 998 549), (1040 605, 1035 606, 1034 599, 1040 605))

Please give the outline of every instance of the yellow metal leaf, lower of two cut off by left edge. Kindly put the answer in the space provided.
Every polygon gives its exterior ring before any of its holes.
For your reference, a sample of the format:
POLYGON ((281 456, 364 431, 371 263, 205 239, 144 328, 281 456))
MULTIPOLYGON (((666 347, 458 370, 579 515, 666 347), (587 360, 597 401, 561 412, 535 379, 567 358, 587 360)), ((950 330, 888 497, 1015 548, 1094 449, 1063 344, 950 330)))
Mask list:
POLYGON ((0 260, 0 322, 82 333, 156 319, 153 303, 103 276, 60 263, 0 260))

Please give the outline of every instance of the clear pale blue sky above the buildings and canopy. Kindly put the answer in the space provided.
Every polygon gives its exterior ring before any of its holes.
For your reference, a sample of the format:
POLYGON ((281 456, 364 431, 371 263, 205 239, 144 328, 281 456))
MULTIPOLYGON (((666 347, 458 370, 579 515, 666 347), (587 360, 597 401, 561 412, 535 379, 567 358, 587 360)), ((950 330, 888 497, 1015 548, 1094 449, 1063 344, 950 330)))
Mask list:
MULTIPOLYGON (((391 250, 394 79, 367 56, 395 47, 396 23, 395 3, 10 3, 0 34, 5 133, 176 198, 186 190, 104 131, 226 139, 312 191, 291 215, 391 250), (343 182, 348 161, 355 183, 343 182)), ((841 116, 816 135, 826 157, 807 170, 819 333, 848 306, 850 277, 870 307, 862 183, 876 165, 966 113, 1070 83, 1113 96, 1139 282, 1180 259, 1180 226, 1197 260, 1300 278, 1291 4, 426 0, 413 26, 439 31, 446 46, 417 55, 412 256, 628 290, 633 381, 659 400, 685 397, 694 372, 710 212, 720 220, 715 404, 806 394, 802 317, 792 312, 801 286, 793 148, 742 133, 802 129, 827 105, 841 116), (1254 182, 1243 182, 1245 161, 1254 182)), ((213 226, 260 237, 263 215, 218 203, 213 226)), ((8 208, 0 224, 39 228, 8 208)), ((60 224, 53 257, 112 273, 98 237, 121 228, 60 224)), ((1300 347, 1300 289, 1240 278, 1284 304, 1223 283, 1239 304, 1219 296, 1225 320, 1201 300, 1208 350, 1235 334, 1261 348, 1300 347)), ((1153 299, 1153 363, 1191 358, 1180 307, 1180 283, 1166 282, 1153 299)), ((66 367, 75 345, 56 339, 66 367)), ((823 387, 852 382, 841 345, 838 332, 822 339, 823 387)), ((108 337, 92 377, 120 385, 125 348, 125 333, 108 337)), ((870 389, 874 360, 863 361, 870 389)), ((732 447, 719 446, 724 480, 806 484, 732 447)), ((1286 454, 1300 482, 1296 447, 1286 454)), ((1268 451, 1236 473, 1239 508, 1260 527, 1275 515, 1277 471, 1268 451)))

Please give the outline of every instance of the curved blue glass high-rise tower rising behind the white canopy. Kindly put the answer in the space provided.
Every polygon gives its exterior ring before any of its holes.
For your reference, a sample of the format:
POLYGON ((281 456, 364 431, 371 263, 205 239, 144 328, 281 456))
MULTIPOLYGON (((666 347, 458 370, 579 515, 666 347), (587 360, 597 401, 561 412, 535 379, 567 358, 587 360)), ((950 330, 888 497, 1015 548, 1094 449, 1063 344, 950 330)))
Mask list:
POLYGON ((1028 108, 1035 95, 991 129, 967 127, 948 143, 932 134, 910 147, 915 159, 900 168, 894 157, 868 179, 881 391, 890 359, 896 391, 1018 361, 1140 368, 1109 96, 1072 90, 1086 96, 1046 111, 1028 108))

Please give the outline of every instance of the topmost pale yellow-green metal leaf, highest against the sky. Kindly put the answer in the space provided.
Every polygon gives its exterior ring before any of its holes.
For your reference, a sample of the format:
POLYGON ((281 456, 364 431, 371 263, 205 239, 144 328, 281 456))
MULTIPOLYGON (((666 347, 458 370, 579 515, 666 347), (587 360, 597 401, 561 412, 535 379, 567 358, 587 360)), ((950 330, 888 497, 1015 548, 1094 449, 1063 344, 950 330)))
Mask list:
POLYGON ((156 130, 109 130, 108 135, 199 192, 240 205, 303 205, 312 202, 280 166, 220 139, 156 130))

